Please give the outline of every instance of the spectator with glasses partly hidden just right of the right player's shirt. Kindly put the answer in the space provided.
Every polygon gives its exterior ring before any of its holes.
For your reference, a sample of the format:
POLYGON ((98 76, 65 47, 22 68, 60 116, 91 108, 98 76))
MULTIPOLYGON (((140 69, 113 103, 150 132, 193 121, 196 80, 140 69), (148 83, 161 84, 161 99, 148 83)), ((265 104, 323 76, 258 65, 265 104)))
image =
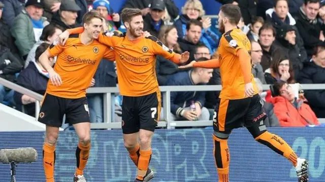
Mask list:
POLYGON ((264 71, 261 66, 261 60, 263 56, 263 50, 258 42, 252 41, 251 45, 251 62, 252 62, 252 74, 254 78, 258 78, 262 84, 266 84, 264 71))

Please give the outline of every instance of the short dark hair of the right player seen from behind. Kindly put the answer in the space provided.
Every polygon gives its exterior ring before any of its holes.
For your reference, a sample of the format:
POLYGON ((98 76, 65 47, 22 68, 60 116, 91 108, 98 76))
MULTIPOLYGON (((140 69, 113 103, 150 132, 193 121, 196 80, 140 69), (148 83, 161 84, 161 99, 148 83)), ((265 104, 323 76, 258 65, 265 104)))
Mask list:
POLYGON ((229 22, 234 25, 237 25, 242 17, 238 5, 225 4, 221 6, 220 11, 229 19, 229 22))

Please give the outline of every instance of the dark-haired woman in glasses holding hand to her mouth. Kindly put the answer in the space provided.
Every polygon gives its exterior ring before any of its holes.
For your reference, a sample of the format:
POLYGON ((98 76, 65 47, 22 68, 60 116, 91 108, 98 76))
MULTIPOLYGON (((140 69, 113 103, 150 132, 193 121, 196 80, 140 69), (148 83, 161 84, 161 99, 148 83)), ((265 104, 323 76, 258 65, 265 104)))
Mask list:
POLYGON ((289 84, 295 83, 294 69, 286 55, 276 54, 271 67, 265 70, 267 84, 283 81, 289 84))

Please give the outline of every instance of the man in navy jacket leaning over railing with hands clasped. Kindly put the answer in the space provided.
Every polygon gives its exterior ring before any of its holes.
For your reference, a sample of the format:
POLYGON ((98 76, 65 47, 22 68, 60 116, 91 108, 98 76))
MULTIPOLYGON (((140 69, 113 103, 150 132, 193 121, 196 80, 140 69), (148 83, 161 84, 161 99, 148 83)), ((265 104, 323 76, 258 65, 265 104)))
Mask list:
MULTIPOLYGON (((205 57, 197 61, 208 60, 205 57)), ((185 85, 206 85, 212 77, 213 69, 193 68, 189 71, 178 72, 169 78, 167 86, 185 86, 185 85)), ((205 103, 205 92, 185 91, 171 92, 171 120, 203 120, 210 118, 209 111, 203 107, 205 103), (196 111, 191 111, 190 105, 194 102, 196 111)))

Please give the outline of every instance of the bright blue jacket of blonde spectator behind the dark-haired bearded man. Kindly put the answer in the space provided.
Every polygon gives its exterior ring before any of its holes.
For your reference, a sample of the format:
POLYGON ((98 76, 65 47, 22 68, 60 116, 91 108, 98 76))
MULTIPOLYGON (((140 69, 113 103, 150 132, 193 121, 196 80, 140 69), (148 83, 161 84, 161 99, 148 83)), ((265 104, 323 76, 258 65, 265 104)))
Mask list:
MULTIPOLYGON (((175 21, 174 25, 177 29, 178 38, 183 38, 186 32, 186 24, 190 19, 187 15, 181 15, 178 20, 175 21)), ((199 21, 202 20, 201 17, 198 18, 199 21)), ((219 36, 211 31, 211 27, 207 31, 202 28, 200 42, 205 44, 210 52, 215 52, 215 49, 219 45, 219 36)))

